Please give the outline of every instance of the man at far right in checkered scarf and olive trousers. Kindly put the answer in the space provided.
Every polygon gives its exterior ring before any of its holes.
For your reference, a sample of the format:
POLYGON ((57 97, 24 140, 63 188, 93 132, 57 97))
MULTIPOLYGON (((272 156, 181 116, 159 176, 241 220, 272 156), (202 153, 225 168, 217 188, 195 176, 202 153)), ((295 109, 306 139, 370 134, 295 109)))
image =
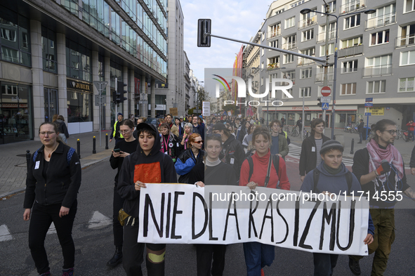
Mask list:
MULTIPOLYGON (((396 124, 389 119, 371 127, 369 143, 357 150, 353 157, 353 173, 360 180, 362 190, 369 192, 371 218, 375 225, 374 242, 369 254, 374 254, 371 275, 383 275, 388 265, 390 247, 395 240, 395 204, 404 195, 415 200, 415 192, 407 184, 402 155, 393 145, 396 124), (388 198, 382 199, 386 193, 388 198), (393 195, 393 199, 390 199, 393 195), (399 196, 400 195, 400 196, 399 196)), ((359 260, 363 256, 349 256, 349 268, 360 275, 359 260)))

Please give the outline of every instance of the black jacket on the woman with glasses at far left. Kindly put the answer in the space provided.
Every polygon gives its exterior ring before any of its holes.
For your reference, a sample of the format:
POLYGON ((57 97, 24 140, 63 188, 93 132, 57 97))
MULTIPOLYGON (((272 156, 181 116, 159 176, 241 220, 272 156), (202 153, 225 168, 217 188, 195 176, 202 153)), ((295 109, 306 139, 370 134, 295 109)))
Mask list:
MULTIPOLYGON (((32 208, 34 200, 41 205, 62 204, 71 208, 77 199, 79 186, 81 185, 81 164, 77 152, 74 152, 70 164, 67 163, 69 145, 59 143, 49 160, 46 171, 47 182, 43 176, 44 170, 44 145, 38 150, 33 162, 30 158, 29 169, 26 178, 25 209, 32 208), (36 164, 39 162, 39 167, 36 164)), ((72 149, 73 150, 73 149, 72 149)))

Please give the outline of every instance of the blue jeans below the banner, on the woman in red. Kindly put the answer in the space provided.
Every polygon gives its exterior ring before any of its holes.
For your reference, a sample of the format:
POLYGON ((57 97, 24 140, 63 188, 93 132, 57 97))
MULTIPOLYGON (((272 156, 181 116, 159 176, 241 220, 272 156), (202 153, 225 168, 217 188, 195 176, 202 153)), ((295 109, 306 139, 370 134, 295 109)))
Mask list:
POLYGON ((247 276, 261 276, 261 268, 270 266, 275 258, 275 247, 259 242, 245 242, 244 256, 247 276))

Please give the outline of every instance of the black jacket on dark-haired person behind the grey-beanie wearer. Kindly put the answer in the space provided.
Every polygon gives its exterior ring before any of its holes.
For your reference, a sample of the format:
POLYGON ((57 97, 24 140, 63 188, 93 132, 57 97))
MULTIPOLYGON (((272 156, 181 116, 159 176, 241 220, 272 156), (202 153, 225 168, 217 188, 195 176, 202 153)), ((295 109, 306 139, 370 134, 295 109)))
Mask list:
MULTIPOLYGON (((330 140, 329 137, 322 135, 323 143, 330 140)), ((301 155, 300 155, 300 176, 305 176, 309 171, 317 167, 317 154, 320 155, 320 152, 317 152, 317 147, 315 145, 314 136, 310 136, 303 140, 301 144, 301 155), (315 151, 312 152, 312 147, 315 148, 315 151)))

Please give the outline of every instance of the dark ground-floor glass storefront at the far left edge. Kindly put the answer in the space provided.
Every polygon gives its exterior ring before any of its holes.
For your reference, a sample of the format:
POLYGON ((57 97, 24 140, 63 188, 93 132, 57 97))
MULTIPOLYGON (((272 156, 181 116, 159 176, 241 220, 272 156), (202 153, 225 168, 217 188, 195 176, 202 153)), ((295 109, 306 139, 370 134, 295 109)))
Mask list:
POLYGON ((0 144, 33 139, 30 86, 1 81, 0 144))

